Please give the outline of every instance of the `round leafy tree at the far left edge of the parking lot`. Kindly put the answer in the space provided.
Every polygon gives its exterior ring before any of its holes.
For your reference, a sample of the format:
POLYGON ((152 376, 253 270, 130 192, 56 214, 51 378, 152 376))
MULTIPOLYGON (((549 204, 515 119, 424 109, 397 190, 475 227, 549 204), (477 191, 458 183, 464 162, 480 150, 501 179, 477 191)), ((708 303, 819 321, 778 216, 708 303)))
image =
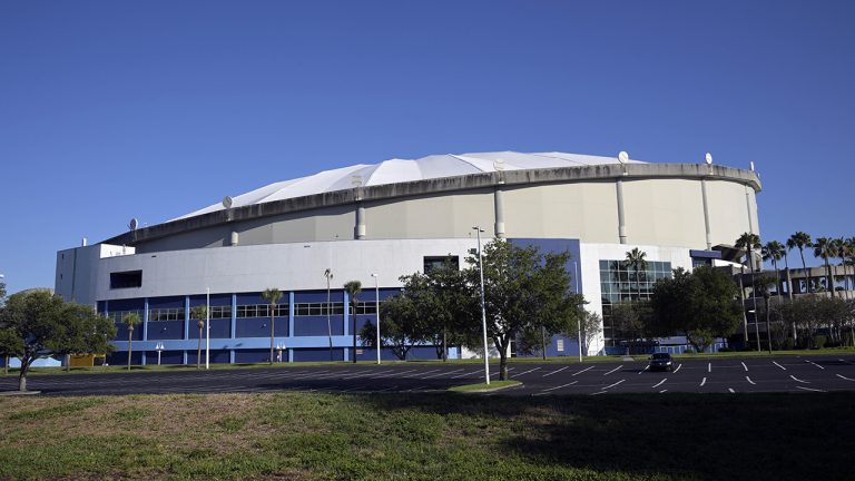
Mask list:
POLYGON ((108 353, 114 323, 90 306, 66 303, 47 291, 18 293, 0 310, 0 350, 21 361, 18 389, 27 391, 27 373, 46 355, 108 353))

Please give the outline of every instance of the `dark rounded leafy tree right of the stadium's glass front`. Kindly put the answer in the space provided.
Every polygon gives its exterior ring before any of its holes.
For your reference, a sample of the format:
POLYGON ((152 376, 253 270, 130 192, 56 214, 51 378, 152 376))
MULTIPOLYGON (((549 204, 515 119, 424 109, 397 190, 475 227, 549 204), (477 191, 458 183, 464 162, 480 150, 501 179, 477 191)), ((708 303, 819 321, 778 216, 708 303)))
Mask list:
POLYGON ((657 331, 682 332, 696 351, 704 352, 716 336, 727 337, 739 327, 743 307, 738 288, 729 275, 709 266, 688 273, 674 271, 672 278, 653 287, 650 306, 657 331))

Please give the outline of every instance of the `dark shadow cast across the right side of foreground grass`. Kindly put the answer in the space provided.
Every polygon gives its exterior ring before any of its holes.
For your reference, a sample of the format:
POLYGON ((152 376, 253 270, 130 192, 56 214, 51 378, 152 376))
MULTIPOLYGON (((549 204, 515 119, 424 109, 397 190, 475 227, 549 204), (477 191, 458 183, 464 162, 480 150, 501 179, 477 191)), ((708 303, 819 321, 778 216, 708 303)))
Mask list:
POLYGON ((360 399, 386 411, 501 420, 510 430, 492 440, 497 457, 543 467, 704 480, 853 475, 855 393, 360 399))

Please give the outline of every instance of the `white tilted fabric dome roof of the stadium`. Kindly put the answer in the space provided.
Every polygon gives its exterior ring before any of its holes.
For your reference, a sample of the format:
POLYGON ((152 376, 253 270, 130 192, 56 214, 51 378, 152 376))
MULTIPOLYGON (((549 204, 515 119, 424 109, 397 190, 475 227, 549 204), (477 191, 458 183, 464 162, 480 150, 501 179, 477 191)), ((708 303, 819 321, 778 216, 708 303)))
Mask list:
MULTIPOLYGON (((629 160, 631 164, 645 164, 629 160)), ((380 164, 358 164, 332 170, 324 170, 308 177, 283 180, 233 197, 232 207, 283 200, 335 190, 351 189, 355 183, 371 187, 385 184, 399 184, 443 177, 456 177, 468 174, 492 173, 501 170, 530 170, 560 167, 587 167, 618 164, 617 157, 599 157, 566 153, 515 151, 445 154, 432 155, 417 159, 390 159, 380 164)), ((214 204, 203 209, 178 217, 194 217, 216 210, 223 210, 223 204, 214 204)), ((175 220, 177 220, 175 219, 175 220)))

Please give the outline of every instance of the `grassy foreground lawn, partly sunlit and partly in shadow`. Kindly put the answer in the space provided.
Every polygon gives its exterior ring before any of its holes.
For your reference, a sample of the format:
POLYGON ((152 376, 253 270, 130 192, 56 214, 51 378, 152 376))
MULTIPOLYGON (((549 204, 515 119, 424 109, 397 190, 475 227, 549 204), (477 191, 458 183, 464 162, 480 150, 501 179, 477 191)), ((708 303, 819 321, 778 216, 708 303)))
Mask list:
POLYGON ((0 479, 852 479, 855 393, 0 399, 0 479))

